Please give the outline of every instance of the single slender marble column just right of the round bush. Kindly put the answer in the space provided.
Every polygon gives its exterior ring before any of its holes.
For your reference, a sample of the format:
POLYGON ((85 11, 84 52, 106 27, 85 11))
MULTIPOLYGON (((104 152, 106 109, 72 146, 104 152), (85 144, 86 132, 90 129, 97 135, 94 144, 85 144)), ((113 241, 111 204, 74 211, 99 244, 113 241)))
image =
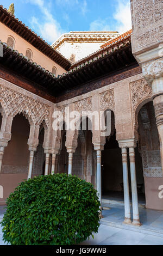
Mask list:
POLYGON ((97 192, 99 202, 102 206, 102 188, 101 188, 101 150, 97 150, 97 192))

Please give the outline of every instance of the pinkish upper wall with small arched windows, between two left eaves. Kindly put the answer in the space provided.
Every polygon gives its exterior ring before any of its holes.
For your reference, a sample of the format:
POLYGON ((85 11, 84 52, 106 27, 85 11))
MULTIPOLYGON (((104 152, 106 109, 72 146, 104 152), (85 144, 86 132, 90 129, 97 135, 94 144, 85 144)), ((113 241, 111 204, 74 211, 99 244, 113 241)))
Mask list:
POLYGON ((7 42, 8 36, 11 35, 15 39, 14 50, 17 50, 19 53, 22 53, 24 56, 26 56, 26 50, 27 48, 29 48, 33 52, 33 62, 36 62, 38 65, 41 65, 42 68, 45 68, 48 71, 52 72, 52 68, 53 66, 55 66, 55 68, 57 68, 57 75, 61 75, 65 72, 65 70, 61 68, 61 66, 53 62, 52 59, 48 58, 45 54, 37 50, 33 45, 29 44, 29 42, 21 38, 21 36, 14 33, 11 29, 3 25, 3 23, 1 22, 0 31, 0 39, 2 42, 7 42))

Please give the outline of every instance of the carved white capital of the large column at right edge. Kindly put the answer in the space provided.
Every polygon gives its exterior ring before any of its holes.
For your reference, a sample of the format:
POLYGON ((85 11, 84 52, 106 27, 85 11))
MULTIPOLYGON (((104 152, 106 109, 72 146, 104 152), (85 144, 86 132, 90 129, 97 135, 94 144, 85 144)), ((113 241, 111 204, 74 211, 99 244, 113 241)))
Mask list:
POLYGON ((147 80, 163 76, 163 58, 142 65, 142 72, 147 80))

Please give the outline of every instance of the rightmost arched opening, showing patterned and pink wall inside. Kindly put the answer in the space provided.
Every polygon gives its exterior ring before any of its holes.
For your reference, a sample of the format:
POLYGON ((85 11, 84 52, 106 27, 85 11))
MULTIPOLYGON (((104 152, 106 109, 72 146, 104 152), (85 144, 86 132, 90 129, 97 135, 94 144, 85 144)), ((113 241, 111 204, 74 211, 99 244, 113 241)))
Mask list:
MULTIPOLYGON (((160 142, 156 126, 153 102, 143 105, 138 114, 139 154, 142 159, 142 174, 136 167, 137 184, 139 177, 144 180, 141 193, 146 196, 146 208, 163 210, 158 193, 163 181, 160 157, 160 142)), ((136 159, 135 159, 135 162, 136 159)))

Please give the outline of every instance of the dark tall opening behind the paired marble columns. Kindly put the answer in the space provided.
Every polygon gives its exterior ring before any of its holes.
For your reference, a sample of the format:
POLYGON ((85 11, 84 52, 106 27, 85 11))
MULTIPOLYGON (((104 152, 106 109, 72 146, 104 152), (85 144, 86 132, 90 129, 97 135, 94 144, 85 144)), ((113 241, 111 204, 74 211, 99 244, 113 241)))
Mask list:
MULTIPOLYGON (((109 200, 110 203, 123 203, 123 168, 122 168, 122 151, 116 140, 115 117, 111 111, 111 133, 106 137, 104 150, 102 151, 102 197, 109 200)), ((142 169, 142 159, 139 152, 139 144, 135 148, 135 167, 137 180, 138 200, 141 204, 145 203, 145 189, 142 169)), ((128 154, 128 177, 130 202, 131 197, 131 179, 130 179, 130 160, 128 154)))

